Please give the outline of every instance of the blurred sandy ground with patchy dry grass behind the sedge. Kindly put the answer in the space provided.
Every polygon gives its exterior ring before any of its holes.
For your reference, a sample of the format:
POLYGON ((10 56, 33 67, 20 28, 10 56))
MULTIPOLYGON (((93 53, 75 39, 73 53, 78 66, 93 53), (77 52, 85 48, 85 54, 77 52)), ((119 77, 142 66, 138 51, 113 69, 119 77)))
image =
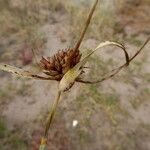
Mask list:
MULTIPOLYGON (((0 62, 39 73, 32 50, 39 61, 73 47, 93 3, 0 0, 0 62)), ((113 40, 132 56, 148 35, 150 0, 100 0, 80 49, 113 40)), ((120 51, 105 48, 90 58, 85 78, 98 79, 123 61, 120 51)), ((75 84, 62 96, 48 150, 150 150, 149 83, 150 43, 113 79, 75 84)), ((38 150, 57 85, 0 72, 0 150, 38 150)))

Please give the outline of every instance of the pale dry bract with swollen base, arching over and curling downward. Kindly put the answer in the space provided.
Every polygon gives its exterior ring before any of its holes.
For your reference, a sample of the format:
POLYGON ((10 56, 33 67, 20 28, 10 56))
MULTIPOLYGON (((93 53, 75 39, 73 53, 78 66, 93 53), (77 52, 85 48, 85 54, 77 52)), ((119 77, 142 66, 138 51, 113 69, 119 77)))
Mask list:
POLYGON ((88 61, 88 58, 94 53, 96 52, 98 49, 105 47, 105 46, 109 46, 109 45, 114 45, 117 46, 119 48, 121 48, 126 56, 126 64, 129 64, 129 56, 128 53, 126 52, 125 48, 123 45, 117 43, 117 42, 110 42, 110 41, 106 41, 106 42, 102 42, 100 43, 95 50, 93 50, 92 52, 90 52, 87 56, 85 56, 76 66, 74 66, 72 69, 70 69, 61 79, 60 83, 59 83, 59 91, 66 91, 67 89, 69 89, 71 87, 71 85, 75 82, 75 80, 77 79, 77 77, 81 74, 82 72, 82 67, 85 65, 85 63, 88 61))

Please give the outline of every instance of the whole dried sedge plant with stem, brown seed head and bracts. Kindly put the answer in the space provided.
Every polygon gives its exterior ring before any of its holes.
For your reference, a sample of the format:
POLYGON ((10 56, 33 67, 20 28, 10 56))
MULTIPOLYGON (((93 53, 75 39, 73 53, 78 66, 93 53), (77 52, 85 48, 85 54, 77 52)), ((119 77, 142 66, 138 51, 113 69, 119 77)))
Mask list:
POLYGON ((139 50, 137 50, 137 52, 132 57, 129 57, 129 54, 126 51, 126 48, 124 45, 118 42, 113 42, 113 41, 105 41, 105 42, 100 43, 96 48, 94 48, 91 52, 89 52, 85 57, 82 57, 82 54, 79 48, 84 38, 84 35, 87 31, 87 28, 90 24, 91 18, 93 16, 93 13, 97 4, 98 4, 98 0, 95 0, 95 3, 88 15, 85 27, 79 37, 79 40, 77 41, 77 44, 74 46, 74 48, 69 48, 67 50, 58 51, 52 57, 47 57, 47 58, 42 57, 41 61, 38 64, 42 68, 42 73, 44 74, 43 76, 39 74, 35 74, 31 71, 25 71, 18 67, 0 63, 0 70, 10 72, 20 77, 36 79, 36 80, 46 80, 46 81, 55 80, 58 82, 58 93, 56 96, 56 100, 54 101, 54 104, 51 107, 51 110, 48 114, 48 117, 46 120, 45 132, 44 132, 43 137, 41 138, 41 144, 39 146, 39 150, 46 149, 47 142, 48 142, 48 131, 52 125, 52 121, 55 116, 55 112, 59 104, 60 97, 64 92, 68 91, 75 84, 75 82, 80 82, 84 84, 95 84, 95 83, 103 82, 109 78, 112 78, 113 76, 118 74, 123 68, 129 66, 131 61, 143 50, 145 45, 150 41, 150 37, 149 37, 141 46, 141 48, 139 48, 139 50), (101 79, 94 80, 94 81, 90 79, 84 80, 83 76, 81 75, 83 75, 85 72, 84 70, 85 64, 88 62, 89 57, 93 53, 95 53, 97 50, 100 50, 106 46, 116 46, 120 48, 120 50, 122 50, 124 53, 125 63, 123 63, 118 68, 113 69, 101 79))

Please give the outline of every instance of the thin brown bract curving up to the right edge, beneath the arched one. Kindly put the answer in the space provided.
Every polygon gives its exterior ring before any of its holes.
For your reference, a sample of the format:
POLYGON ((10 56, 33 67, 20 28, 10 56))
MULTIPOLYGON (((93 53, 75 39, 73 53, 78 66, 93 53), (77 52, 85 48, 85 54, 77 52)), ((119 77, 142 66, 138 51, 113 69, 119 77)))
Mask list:
POLYGON ((117 73, 119 73, 123 68, 125 68, 142 50, 143 48, 146 46, 146 44, 150 41, 150 37, 147 38, 147 40, 144 42, 144 44, 141 46, 141 48, 131 57, 128 59, 128 61, 126 61, 126 63, 124 63, 122 66, 112 70, 109 75, 106 75, 105 77, 101 78, 100 80, 96 80, 96 81, 85 81, 82 79, 78 79, 78 82, 81 83, 87 83, 87 84, 94 84, 94 83, 100 83, 103 82, 109 78, 114 77, 117 73))

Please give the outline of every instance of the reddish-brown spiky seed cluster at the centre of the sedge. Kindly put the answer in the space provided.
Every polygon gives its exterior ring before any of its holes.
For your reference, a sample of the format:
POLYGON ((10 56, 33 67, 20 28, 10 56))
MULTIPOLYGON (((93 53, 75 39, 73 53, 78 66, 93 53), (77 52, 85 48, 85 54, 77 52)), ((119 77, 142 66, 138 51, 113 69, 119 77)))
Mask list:
POLYGON ((52 57, 42 57, 40 65, 46 75, 53 76, 56 80, 61 80, 63 75, 80 61, 80 58, 79 50, 59 50, 52 57))

